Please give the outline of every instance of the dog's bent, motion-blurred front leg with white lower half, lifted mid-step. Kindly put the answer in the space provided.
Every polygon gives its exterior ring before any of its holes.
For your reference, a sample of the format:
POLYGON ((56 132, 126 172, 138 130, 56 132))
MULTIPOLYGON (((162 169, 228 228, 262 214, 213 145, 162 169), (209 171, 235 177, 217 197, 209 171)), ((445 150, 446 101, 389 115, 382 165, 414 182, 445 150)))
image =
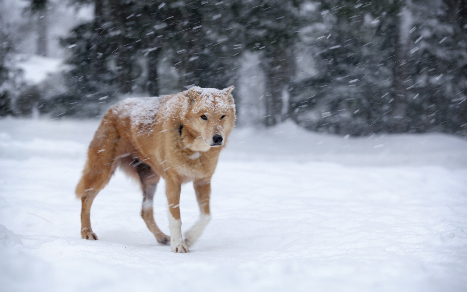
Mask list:
POLYGON ((211 178, 195 180, 193 187, 196 192, 196 199, 199 205, 199 219, 195 222, 193 227, 185 233, 185 243, 191 246, 203 233, 206 225, 211 219, 209 211, 209 199, 211 197, 211 178))

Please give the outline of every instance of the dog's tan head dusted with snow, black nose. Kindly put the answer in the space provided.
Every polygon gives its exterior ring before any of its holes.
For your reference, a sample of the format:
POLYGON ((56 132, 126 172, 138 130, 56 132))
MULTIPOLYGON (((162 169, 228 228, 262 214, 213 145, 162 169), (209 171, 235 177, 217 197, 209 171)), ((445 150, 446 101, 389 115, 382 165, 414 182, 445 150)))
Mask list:
POLYGON ((235 125, 235 104, 231 94, 234 86, 219 90, 191 87, 186 91, 189 110, 183 130, 192 137, 189 148, 207 151, 223 146, 235 125))

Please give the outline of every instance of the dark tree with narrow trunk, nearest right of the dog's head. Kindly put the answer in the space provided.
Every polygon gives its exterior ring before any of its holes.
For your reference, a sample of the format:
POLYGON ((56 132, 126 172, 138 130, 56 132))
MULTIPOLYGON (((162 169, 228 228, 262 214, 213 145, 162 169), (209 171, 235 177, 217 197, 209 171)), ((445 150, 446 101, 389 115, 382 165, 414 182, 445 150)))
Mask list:
POLYGON ((245 28, 243 42, 249 50, 263 53, 262 67, 266 75, 264 123, 267 126, 287 116, 285 95, 295 75, 294 45, 301 27, 300 1, 245 1, 239 21, 245 28))

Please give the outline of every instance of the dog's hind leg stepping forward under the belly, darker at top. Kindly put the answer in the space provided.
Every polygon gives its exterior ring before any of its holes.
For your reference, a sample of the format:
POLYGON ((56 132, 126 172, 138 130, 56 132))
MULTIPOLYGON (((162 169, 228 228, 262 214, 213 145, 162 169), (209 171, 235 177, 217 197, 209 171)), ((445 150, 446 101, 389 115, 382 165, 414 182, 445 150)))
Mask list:
POLYGON ((156 221, 154 221, 153 213, 153 198, 156 192, 156 186, 159 182, 159 176, 152 171, 148 164, 139 162, 136 160, 133 165, 134 169, 138 173, 141 180, 141 188, 143 191, 143 204, 141 209, 141 217, 148 226, 149 230, 156 236, 156 240, 160 243, 166 244, 170 242, 170 236, 165 235, 159 227, 157 227, 156 221))

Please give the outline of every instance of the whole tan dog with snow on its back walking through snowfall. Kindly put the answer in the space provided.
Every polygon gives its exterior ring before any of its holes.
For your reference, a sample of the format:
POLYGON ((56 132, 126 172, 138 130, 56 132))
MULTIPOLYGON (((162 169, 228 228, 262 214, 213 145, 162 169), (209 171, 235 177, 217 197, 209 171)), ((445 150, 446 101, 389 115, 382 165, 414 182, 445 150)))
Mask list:
POLYGON ((92 232, 92 201, 120 166, 141 183, 141 215, 158 242, 173 252, 188 252, 210 219, 211 177, 220 150, 235 125, 233 86, 218 90, 192 87, 181 93, 133 98, 111 107, 91 144, 76 195, 81 198, 81 236, 97 240, 92 232), (153 196, 160 178, 166 182, 170 236, 156 225, 153 196), (193 181, 199 220, 182 237, 180 190, 193 181))

